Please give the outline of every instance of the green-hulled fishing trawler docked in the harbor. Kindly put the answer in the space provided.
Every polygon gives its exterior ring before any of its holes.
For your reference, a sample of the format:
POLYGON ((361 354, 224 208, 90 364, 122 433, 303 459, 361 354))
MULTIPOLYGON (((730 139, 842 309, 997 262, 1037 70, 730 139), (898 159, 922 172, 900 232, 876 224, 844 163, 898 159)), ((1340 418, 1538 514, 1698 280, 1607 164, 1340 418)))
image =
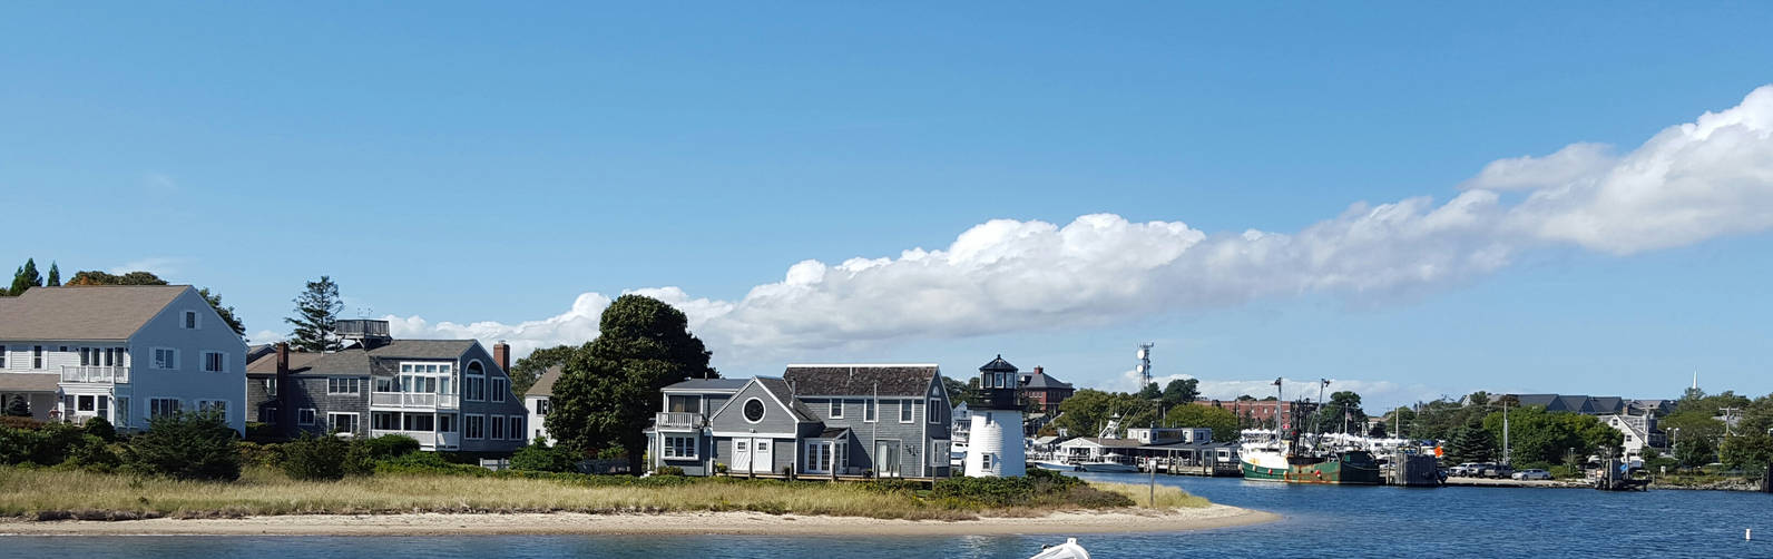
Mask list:
MULTIPOLYGON (((1275 380, 1280 387, 1280 380, 1275 380)), ((1278 389, 1277 389, 1278 390, 1278 389)), ((1275 399, 1275 433, 1266 440, 1245 442, 1238 456, 1243 461, 1243 479, 1324 484, 1379 484, 1379 461, 1362 449, 1319 451, 1301 445, 1298 429, 1284 437, 1280 403, 1275 399)), ((1298 412, 1298 406, 1293 408, 1298 412)))

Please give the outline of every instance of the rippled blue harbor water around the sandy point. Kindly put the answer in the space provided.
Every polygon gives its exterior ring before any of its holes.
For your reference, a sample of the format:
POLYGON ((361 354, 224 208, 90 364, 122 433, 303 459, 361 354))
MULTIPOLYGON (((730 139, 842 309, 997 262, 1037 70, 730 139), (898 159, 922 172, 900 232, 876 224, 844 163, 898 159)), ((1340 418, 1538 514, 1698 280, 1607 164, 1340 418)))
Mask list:
MULTIPOLYGON (((1083 474, 1144 483, 1136 474, 1083 474)), ((1094 557, 1773 557, 1773 495, 1337 488, 1158 477, 1285 516, 1179 534, 1083 534, 1094 557), (1743 541, 1743 529, 1766 541, 1743 541)), ((1064 536, 0 538, 4 557, 1028 557, 1064 536)))

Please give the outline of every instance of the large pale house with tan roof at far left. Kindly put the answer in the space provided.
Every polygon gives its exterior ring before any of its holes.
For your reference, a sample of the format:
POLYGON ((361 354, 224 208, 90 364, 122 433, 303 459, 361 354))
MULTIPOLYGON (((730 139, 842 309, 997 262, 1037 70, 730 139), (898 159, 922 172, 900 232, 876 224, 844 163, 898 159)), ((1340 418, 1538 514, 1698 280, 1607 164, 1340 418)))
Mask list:
POLYGON ((245 433, 246 342, 191 286, 32 287, 0 298, 0 399, 39 421, 216 412, 245 433))

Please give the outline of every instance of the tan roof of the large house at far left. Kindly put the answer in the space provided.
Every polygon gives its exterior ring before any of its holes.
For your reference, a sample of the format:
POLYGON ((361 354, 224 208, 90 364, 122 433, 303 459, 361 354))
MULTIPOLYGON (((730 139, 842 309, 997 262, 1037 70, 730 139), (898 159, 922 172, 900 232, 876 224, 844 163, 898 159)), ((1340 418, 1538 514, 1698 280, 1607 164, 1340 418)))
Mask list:
POLYGON ((5 300, 0 339, 126 341, 191 286, 30 287, 5 300))

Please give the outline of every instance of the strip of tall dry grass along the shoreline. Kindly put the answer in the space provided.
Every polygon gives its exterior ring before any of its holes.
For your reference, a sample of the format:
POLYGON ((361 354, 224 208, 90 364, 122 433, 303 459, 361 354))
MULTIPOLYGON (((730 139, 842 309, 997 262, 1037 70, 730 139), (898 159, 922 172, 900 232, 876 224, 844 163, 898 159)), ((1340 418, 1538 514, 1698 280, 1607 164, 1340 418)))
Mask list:
MULTIPOLYGON (((684 479, 677 484, 606 484, 583 477, 466 477, 440 474, 378 474, 342 481, 294 481, 273 468, 248 467, 239 481, 174 481, 82 470, 0 467, 0 516, 27 520, 238 518, 268 515, 406 515, 406 513, 699 513, 757 511, 769 515, 863 516, 902 520, 972 520, 980 516, 1043 516, 1053 511, 1135 511, 1206 508, 1209 502, 1177 488, 1158 488, 1154 506, 1144 486, 1103 484, 1108 499, 1067 502, 1041 499, 986 506, 940 499, 929 492, 881 490, 821 481, 684 479)), ((1069 495, 1069 493, 1067 493, 1069 495)))

